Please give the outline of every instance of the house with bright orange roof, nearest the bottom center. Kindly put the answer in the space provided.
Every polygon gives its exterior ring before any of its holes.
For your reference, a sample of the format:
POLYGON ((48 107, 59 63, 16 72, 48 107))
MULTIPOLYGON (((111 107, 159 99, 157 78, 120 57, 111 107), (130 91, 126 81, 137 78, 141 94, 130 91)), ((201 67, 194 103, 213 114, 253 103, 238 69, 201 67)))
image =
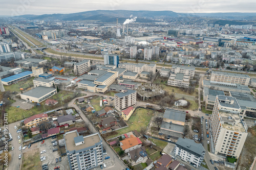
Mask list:
POLYGON ((138 137, 135 137, 134 135, 131 135, 129 138, 125 138, 122 141, 120 141, 120 147, 125 153, 140 148, 141 146, 141 140, 138 137))

